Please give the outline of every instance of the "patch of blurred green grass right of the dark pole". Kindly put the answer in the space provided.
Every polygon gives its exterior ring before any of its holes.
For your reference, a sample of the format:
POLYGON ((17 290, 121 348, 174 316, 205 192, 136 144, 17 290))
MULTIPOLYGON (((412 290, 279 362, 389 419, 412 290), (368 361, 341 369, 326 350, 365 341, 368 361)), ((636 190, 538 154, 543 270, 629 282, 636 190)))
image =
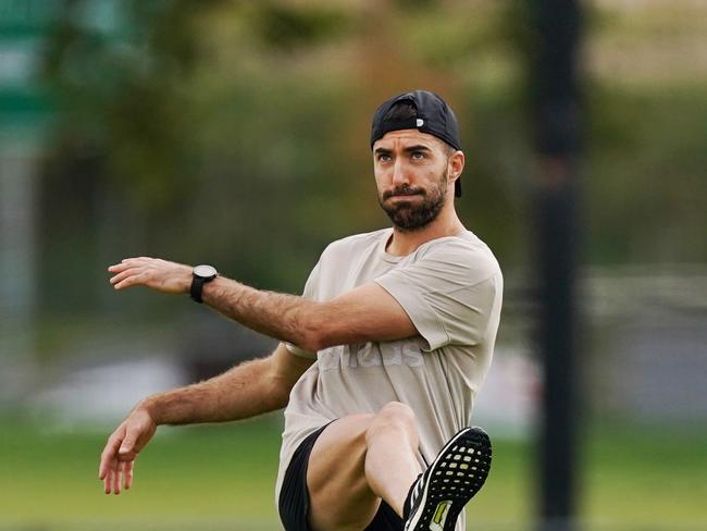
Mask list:
POLYGON ((707 529, 707 433, 604 429, 591 437, 584 514, 625 529, 707 529))

